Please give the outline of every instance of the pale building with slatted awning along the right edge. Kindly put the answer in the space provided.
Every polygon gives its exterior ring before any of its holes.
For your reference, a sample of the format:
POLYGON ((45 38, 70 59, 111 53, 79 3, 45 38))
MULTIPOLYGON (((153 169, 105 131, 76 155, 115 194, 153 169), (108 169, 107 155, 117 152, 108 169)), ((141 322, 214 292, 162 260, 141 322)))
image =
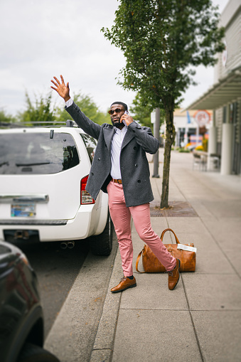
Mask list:
POLYGON ((241 174, 241 0, 230 0, 220 16, 225 50, 218 54, 214 84, 188 110, 213 110, 208 155, 220 157, 220 173, 241 174))

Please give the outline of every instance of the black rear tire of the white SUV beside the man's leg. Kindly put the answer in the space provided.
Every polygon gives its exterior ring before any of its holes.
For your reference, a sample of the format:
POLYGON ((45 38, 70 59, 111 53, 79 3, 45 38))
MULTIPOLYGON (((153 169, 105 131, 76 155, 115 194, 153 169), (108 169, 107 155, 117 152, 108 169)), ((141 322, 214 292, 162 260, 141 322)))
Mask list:
POLYGON ((90 250, 93 255, 108 256, 112 251, 113 223, 109 215, 105 229, 100 235, 90 237, 90 250))

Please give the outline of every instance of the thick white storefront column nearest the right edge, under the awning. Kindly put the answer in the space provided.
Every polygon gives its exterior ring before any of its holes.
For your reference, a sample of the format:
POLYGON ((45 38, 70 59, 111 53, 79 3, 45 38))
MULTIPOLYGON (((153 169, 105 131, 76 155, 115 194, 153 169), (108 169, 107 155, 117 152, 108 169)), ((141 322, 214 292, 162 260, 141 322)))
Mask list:
POLYGON ((232 124, 223 123, 221 175, 232 173, 232 124))

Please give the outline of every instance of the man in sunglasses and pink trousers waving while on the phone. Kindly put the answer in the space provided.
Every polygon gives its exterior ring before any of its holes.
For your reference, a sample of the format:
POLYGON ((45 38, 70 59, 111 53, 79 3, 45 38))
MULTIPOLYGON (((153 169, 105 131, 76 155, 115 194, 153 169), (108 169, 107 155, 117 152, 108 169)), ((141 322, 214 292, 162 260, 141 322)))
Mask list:
POLYGON ((124 278, 111 289, 122 292, 136 287, 133 276, 131 217, 141 240, 166 267, 168 288, 173 290, 179 280, 180 260, 175 259, 151 228, 149 203, 154 200, 151 191, 149 164, 146 152, 155 154, 159 141, 154 138, 149 127, 141 127, 128 115, 128 107, 123 102, 112 103, 109 115, 111 124, 96 124, 81 112, 70 98, 69 83, 65 85, 63 76, 54 77, 53 90, 65 100, 65 109, 87 134, 98 140, 92 162, 86 191, 96 199, 100 190, 109 196, 109 213, 117 233, 122 257, 124 278))

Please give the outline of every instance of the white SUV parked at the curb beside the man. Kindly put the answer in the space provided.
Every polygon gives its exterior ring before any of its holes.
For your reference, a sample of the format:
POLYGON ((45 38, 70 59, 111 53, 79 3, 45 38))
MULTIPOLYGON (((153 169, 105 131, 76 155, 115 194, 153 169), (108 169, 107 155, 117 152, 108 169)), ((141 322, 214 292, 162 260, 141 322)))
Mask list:
POLYGON ((73 247, 91 237, 92 252, 109 255, 107 193, 93 200, 85 191, 96 144, 77 127, 0 129, 0 239, 73 247))

